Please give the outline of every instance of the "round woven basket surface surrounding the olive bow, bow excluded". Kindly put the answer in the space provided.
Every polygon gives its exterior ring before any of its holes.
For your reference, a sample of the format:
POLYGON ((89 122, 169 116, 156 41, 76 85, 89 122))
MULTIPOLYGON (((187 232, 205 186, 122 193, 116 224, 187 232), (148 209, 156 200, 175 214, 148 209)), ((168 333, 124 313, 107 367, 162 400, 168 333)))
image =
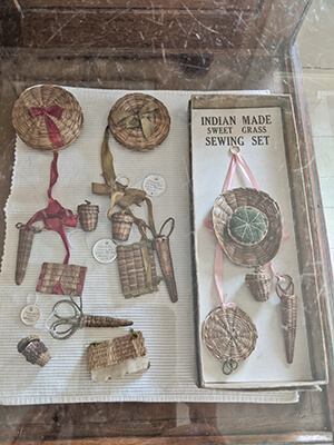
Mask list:
POLYGON ((170 129, 170 117, 167 108, 158 99, 149 95, 134 92, 124 96, 114 105, 109 112, 108 125, 117 142, 130 150, 148 151, 167 138, 170 129), (138 112, 149 101, 154 101, 158 109, 150 117, 150 121, 154 122, 154 132, 148 139, 145 138, 140 127, 127 128, 126 126, 115 125, 111 115, 116 109, 138 112))

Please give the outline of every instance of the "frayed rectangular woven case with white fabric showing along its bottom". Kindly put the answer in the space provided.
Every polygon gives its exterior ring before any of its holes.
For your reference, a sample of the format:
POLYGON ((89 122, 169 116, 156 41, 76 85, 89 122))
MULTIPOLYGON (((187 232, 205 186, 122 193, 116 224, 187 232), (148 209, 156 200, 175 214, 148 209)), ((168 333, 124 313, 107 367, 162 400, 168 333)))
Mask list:
POLYGON ((95 382, 107 382, 148 367, 141 332, 90 344, 87 350, 87 369, 95 382))

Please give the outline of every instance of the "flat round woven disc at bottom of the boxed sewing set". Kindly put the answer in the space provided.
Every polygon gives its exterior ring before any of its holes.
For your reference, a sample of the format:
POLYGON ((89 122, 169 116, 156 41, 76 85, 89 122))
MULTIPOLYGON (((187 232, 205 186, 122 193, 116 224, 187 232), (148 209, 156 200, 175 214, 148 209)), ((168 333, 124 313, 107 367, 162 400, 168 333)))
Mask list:
POLYGON ((238 307, 216 307, 206 317, 202 337, 208 352, 218 360, 244 360, 255 349, 256 326, 238 307))

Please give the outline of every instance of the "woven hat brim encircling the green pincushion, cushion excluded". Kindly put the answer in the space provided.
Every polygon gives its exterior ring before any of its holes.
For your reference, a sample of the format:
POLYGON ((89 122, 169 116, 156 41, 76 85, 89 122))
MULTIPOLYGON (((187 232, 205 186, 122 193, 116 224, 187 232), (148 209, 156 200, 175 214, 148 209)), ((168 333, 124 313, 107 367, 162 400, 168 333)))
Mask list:
POLYGON ((278 251, 283 233, 278 204, 269 195, 255 188, 235 188, 219 195, 213 208, 213 227, 227 258, 246 267, 269 263, 278 251), (267 229, 259 241, 245 244, 232 237, 229 220, 240 208, 255 209, 265 218, 267 229))

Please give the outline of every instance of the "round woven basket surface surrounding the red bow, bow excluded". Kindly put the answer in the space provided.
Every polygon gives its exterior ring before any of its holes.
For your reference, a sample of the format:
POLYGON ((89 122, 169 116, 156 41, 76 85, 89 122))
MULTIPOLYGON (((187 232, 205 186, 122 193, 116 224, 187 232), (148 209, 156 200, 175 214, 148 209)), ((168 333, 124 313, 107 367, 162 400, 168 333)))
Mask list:
POLYGON ((59 151, 70 146, 79 136, 84 126, 84 115, 77 99, 67 90, 52 85, 28 88, 16 101, 12 110, 12 125, 27 146, 37 150, 59 151), (49 108, 61 107, 61 119, 48 117, 55 122, 61 134, 63 146, 56 147, 48 134, 43 116, 31 117, 29 109, 32 107, 49 108))

